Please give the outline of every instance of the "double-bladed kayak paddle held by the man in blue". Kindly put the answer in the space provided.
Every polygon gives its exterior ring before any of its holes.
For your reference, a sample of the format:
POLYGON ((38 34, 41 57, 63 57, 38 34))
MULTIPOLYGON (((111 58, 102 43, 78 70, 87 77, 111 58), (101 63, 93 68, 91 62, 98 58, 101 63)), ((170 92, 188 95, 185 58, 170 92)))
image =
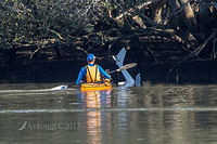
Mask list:
MULTIPOLYGON (((116 71, 122 71, 122 70, 126 70, 126 69, 132 68, 132 67, 135 67, 135 66, 137 66, 137 63, 130 63, 130 64, 127 64, 127 65, 122 66, 122 67, 118 68, 118 69, 112 70, 112 71, 110 71, 108 74, 116 73, 116 71)), ((52 88, 51 90, 66 90, 68 87, 75 86, 75 84, 76 84, 76 83, 72 83, 72 84, 69 84, 69 86, 59 86, 59 87, 52 88)))

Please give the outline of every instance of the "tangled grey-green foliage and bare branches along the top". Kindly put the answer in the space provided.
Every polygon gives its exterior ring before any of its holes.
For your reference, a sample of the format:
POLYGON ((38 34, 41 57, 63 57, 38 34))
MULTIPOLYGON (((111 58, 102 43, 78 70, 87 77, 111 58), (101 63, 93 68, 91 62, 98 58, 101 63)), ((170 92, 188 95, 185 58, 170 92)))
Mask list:
POLYGON ((0 49, 67 44, 88 51, 161 36, 182 44, 186 58, 207 44, 216 57, 214 0, 1 0, 0 24, 0 49))

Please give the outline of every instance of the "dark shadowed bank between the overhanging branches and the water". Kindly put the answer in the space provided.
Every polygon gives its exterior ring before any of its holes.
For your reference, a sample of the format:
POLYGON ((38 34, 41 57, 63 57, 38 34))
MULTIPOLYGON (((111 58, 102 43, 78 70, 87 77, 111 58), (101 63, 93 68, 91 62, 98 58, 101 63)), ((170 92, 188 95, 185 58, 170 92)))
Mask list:
MULTIPOLYGON (((118 49, 93 49, 90 51, 98 56, 97 63, 104 69, 118 68, 112 58, 125 45, 118 49)), ((217 61, 192 58, 182 63, 170 74, 168 70, 182 60, 187 52, 179 44, 165 39, 157 42, 130 44, 127 50, 125 64, 138 63, 128 71, 135 78, 141 74, 142 81, 152 83, 217 83, 217 61), (133 49, 135 48, 135 49, 133 49)), ((86 63, 86 53, 71 48, 42 49, 30 55, 34 48, 0 52, 0 82, 75 82, 77 75, 86 63)), ((112 75, 113 81, 124 80, 120 73, 112 75)))

